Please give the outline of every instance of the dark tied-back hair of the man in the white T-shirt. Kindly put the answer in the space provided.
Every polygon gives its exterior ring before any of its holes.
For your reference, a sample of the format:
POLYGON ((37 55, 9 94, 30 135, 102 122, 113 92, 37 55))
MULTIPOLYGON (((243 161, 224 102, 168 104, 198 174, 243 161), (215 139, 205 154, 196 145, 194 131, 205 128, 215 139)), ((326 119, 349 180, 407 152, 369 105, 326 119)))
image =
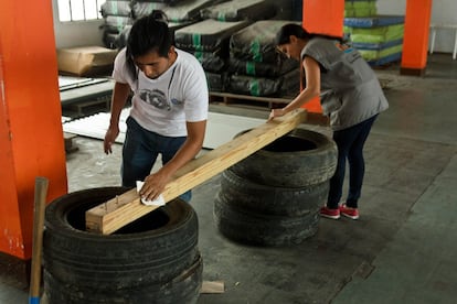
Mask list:
POLYGON ((149 15, 138 19, 127 39, 126 57, 130 73, 137 76, 134 63, 137 56, 156 51, 160 57, 168 57, 172 41, 172 32, 168 28, 164 12, 153 10, 149 15))

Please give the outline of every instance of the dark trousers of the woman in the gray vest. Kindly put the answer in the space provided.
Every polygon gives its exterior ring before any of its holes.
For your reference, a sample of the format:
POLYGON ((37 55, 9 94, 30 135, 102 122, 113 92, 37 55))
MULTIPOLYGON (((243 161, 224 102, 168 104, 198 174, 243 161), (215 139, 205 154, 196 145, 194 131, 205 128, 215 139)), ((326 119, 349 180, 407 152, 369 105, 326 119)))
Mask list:
POLYGON ((349 162, 349 192, 346 205, 358 207, 365 174, 363 145, 378 115, 348 129, 333 132, 333 140, 338 146, 338 164, 333 177, 330 178, 330 191, 327 207, 337 209, 342 196, 342 185, 346 174, 346 160, 349 162))

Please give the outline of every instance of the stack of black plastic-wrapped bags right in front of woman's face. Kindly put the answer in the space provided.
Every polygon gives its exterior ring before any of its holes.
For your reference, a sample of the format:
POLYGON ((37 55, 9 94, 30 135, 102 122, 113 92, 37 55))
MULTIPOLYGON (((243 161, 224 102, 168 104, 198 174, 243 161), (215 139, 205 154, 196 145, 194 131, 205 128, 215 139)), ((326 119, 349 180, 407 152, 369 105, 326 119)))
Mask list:
POLYGON ((290 21, 262 20, 233 34, 230 42, 228 87, 234 94, 294 96, 299 91, 299 63, 275 45, 279 29, 290 21))

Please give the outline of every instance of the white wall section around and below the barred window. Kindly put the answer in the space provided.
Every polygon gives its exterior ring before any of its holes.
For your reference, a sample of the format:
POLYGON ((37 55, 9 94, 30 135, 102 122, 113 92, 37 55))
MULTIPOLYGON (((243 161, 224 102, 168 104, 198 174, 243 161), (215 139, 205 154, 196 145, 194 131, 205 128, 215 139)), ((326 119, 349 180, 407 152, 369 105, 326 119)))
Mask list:
POLYGON ((52 7, 56 47, 85 45, 103 46, 103 30, 99 29, 99 26, 103 24, 103 20, 84 22, 60 22, 56 0, 52 0, 52 7))

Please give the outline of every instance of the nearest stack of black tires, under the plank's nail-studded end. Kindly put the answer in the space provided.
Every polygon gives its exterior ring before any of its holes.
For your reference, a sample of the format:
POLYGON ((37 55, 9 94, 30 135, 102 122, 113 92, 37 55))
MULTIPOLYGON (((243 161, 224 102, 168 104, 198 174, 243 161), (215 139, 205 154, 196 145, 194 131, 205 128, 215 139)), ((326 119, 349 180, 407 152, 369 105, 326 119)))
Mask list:
POLYGON ((85 231, 85 211, 126 191, 75 192, 46 207, 46 303, 196 303, 203 264, 196 215, 184 200, 177 198, 113 235, 85 231))

